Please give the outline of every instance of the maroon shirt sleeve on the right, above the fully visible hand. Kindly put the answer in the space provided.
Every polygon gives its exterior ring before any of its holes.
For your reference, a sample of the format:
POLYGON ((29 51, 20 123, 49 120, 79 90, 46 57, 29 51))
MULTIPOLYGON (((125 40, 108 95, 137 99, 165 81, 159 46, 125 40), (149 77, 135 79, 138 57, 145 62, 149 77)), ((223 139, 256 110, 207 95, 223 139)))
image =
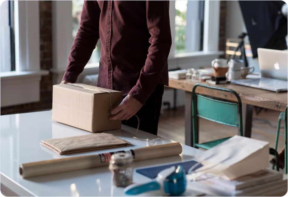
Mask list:
POLYGON ((162 76, 172 39, 169 20, 169 1, 146 1, 147 27, 151 35, 147 59, 136 85, 129 95, 142 104, 154 91, 162 76))

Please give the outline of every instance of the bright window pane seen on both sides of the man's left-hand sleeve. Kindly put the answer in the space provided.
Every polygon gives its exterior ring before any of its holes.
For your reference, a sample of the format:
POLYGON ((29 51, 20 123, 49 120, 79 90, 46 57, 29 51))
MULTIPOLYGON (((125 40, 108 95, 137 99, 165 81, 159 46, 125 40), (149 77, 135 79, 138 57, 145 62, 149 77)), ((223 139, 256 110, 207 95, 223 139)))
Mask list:
MULTIPOLYGON (((76 36, 78 28, 79 28, 79 22, 80 22, 80 18, 81 18, 83 3, 84 3, 84 1, 72 1, 72 19, 73 19, 72 35, 73 35, 73 39, 75 39, 75 36, 76 36)), ((101 42, 100 42, 100 40, 98 40, 96 48, 94 49, 94 51, 91 55, 91 58, 88 61, 87 66, 98 65, 99 60, 100 60, 100 54, 101 54, 101 42)))

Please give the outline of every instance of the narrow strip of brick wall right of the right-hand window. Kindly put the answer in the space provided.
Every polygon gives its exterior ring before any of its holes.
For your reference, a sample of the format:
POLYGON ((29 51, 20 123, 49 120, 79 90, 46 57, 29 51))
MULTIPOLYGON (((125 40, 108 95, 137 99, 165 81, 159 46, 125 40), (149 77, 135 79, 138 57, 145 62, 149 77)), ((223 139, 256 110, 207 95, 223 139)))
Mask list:
MULTIPOLYGON (((226 9, 227 1, 220 1, 219 51, 226 49, 226 9)), ((225 55, 222 56, 222 58, 224 57, 225 55)))

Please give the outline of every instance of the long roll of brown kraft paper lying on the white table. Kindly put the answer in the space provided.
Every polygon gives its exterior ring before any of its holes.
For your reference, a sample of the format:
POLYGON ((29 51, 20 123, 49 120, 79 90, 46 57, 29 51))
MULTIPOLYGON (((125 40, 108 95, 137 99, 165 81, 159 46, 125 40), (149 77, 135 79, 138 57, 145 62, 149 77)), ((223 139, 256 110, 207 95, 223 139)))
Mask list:
MULTIPOLYGON (((129 152, 133 155, 134 161, 142 161, 147 159, 179 155, 182 153, 182 146, 179 142, 177 142, 119 152, 129 152)), ((102 167, 109 165, 111 155, 114 153, 116 152, 24 163, 20 165, 19 172, 22 178, 28 178, 74 170, 102 167)))

